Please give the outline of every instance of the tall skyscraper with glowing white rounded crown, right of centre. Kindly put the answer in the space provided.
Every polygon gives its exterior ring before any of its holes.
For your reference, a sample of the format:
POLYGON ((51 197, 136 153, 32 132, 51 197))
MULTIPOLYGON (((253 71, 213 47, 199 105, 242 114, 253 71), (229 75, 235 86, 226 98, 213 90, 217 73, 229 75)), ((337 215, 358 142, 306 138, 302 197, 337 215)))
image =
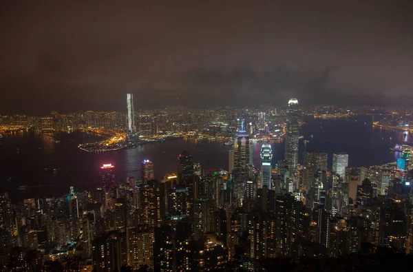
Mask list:
POLYGON ((298 140, 299 140, 299 107, 296 98, 288 101, 287 123, 286 123, 286 153, 285 159, 292 174, 297 171, 298 163, 298 140))

